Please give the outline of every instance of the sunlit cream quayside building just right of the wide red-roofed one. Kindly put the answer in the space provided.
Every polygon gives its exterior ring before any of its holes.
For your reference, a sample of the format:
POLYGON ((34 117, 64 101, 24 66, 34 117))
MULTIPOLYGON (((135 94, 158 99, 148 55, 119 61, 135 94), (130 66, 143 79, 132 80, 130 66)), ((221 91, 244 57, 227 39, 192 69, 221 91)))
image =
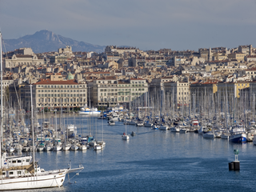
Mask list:
POLYGON ((114 77, 93 81, 92 100, 94 106, 115 106, 138 98, 148 91, 146 79, 130 78, 118 80, 114 77))

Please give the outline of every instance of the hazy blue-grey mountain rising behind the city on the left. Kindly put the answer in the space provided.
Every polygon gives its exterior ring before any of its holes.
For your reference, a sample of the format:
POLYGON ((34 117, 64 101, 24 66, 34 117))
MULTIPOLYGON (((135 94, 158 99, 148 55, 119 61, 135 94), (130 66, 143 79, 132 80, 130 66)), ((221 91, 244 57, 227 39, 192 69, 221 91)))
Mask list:
POLYGON ((65 38, 62 35, 54 34, 50 30, 40 30, 35 34, 28 34, 22 38, 4 39, 7 51, 22 47, 31 47, 34 53, 43 53, 49 51, 58 51, 59 48, 71 46, 73 51, 94 51, 101 53, 105 46, 96 46, 87 42, 78 42, 71 38, 65 38))

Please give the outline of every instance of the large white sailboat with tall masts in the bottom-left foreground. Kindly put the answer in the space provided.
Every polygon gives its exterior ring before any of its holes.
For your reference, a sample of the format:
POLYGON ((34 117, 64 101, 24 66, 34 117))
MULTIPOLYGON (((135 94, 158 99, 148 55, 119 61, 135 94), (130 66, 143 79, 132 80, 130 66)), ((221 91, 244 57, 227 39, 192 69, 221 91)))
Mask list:
MULTIPOLYGON (((0 60, 1 60, 1 133, 3 127, 2 115, 2 34, 0 32, 0 60)), ((66 174, 82 170, 83 166, 77 169, 61 169, 45 171, 38 166, 34 158, 34 118, 32 102, 32 85, 30 86, 31 95, 31 130, 33 135, 33 161, 31 156, 12 156, 8 157, 6 153, 2 154, 2 145, 0 142, 0 190, 28 190, 41 189, 46 187, 62 186, 66 174)), ((0 134, 2 140, 2 134, 0 134)))

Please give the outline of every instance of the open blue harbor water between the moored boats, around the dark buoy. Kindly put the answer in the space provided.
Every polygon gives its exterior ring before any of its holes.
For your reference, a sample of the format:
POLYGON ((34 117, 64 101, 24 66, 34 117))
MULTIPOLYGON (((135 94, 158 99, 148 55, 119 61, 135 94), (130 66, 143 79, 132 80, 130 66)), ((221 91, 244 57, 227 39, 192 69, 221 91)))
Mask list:
POLYGON ((252 142, 234 144, 123 122, 108 126, 106 120, 82 115, 65 121, 74 123, 78 134, 86 136, 90 131, 98 141, 103 138, 106 146, 99 151, 36 152, 45 170, 66 168, 70 161, 74 167, 81 163, 84 170, 70 174, 70 183, 66 175, 61 188, 28 191, 256 191, 256 146, 252 142), (136 136, 122 140, 126 130, 136 136), (234 161, 237 149, 241 170, 229 171, 228 163, 234 161))

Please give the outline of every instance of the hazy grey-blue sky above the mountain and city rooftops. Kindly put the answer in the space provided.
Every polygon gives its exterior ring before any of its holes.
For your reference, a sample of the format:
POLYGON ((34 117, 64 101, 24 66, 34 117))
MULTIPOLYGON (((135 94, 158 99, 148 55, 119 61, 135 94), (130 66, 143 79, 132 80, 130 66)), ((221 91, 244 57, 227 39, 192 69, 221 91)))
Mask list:
POLYGON ((141 50, 256 46, 256 0, 0 0, 0 28, 141 50))

